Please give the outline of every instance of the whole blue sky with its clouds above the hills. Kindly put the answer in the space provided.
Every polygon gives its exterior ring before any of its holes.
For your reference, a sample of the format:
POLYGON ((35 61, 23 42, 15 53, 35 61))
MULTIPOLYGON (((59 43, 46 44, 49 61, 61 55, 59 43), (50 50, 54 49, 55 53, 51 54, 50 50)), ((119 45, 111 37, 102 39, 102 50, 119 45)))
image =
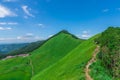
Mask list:
POLYGON ((120 26, 120 0, 0 0, 0 43, 32 42, 66 29, 89 38, 120 26))

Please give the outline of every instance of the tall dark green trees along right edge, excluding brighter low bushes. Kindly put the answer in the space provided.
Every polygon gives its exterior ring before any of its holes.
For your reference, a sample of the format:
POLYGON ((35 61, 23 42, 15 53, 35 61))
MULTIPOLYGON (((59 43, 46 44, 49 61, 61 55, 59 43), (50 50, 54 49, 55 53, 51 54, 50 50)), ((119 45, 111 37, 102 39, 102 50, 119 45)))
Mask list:
POLYGON ((120 28, 109 27, 97 38, 101 46, 99 59, 102 67, 105 67, 112 75, 113 80, 120 79, 120 28))

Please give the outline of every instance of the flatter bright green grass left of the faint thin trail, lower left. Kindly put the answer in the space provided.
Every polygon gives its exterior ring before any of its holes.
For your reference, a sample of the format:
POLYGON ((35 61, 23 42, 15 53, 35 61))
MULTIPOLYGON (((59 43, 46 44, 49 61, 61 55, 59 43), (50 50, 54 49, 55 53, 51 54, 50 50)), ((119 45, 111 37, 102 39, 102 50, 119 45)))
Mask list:
POLYGON ((30 80, 31 66, 28 58, 16 57, 0 61, 0 80, 30 80))

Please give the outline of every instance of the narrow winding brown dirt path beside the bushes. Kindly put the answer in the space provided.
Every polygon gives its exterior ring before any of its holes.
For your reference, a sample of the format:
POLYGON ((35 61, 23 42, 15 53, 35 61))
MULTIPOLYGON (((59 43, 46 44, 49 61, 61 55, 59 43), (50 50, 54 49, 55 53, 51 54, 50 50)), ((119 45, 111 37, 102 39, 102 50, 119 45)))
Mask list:
POLYGON ((96 56, 97 56, 97 53, 99 52, 99 49, 100 47, 97 46, 94 53, 93 53, 93 56, 92 58, 88 61, 87 65, 85 66, 85 77, 86 77, 86 80, 93 80, 93 78, 90 76, 90 65, 92 65, 92 63, 94 63, 96 61, 96 56))

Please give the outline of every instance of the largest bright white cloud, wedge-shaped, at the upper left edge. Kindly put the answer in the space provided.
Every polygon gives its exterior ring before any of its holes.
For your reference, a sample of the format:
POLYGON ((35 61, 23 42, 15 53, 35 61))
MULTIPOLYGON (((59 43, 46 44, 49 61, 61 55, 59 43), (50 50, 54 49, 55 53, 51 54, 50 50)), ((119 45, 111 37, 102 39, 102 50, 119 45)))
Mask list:
POLYGON ((8 17, 8 16, 17 16, 15 13, 13 13, 11 10, 9 10, 7 7, 4 7, 0 5, 0 18, 8 17))

